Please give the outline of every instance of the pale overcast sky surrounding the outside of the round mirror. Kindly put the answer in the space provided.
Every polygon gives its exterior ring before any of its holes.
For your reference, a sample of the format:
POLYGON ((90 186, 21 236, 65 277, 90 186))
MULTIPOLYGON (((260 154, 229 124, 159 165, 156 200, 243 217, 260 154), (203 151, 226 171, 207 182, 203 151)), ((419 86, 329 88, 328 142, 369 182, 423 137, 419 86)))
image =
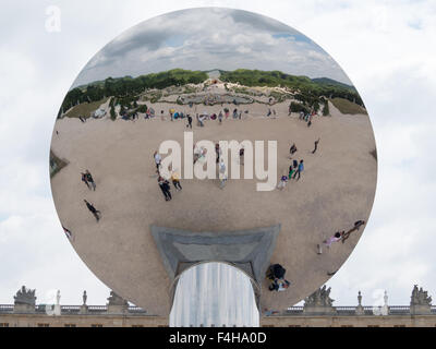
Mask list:
MULTIPOLYGON (((12 303, 22 285, 37 289, 38 302, 58 288, 63 304, 80 303, 84 289, 89 304, 106 302, 109 290, 71 248, 55 210, 48 170, 55 118, 80 71, 107 43, 156 15, 204 5, 253 11, 304 33, 347 72, 370 111, 378 148, 377 193, 361 241, 328 282, 336 304, 355 304, 359 290, 365 304, 374 304, 384 289, 390 304, 408 304, 413 284, 435 298, 434 1, 3 0, 0 303, 12 303), (60 32, 50 32, 50 5, 60 9, 60 32)), ((246 35, 250 21, 234 21, 246 35)), ((202 21, 190 25, 195 24, 203 31, 202 21)), ((183 33, 175 23, 165 25, 183 33)), ((171 43, 156 50, 168 47, 171 43)), ((129 47, 124 52, 129 58, 129 47)))

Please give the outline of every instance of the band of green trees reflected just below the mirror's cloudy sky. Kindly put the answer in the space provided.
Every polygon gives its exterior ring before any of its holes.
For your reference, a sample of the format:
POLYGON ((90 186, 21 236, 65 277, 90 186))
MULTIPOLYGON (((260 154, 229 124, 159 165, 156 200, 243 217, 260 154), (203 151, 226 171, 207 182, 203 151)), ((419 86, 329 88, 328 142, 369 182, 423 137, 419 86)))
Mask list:
MULTIPOLYGON (((319 104, 325 103, 324 98, 336 97, 346 98, 360 106, 364 106, 362 98, 353 86, 329 79, 311 80, 307 76, 290 75, 280 71, 246 69, 220 71, 220 80, 223 82, 240 83, 245 86, 289 87, 298 91, 294 95, 295 99, 304 106, 315 107, 316 109, 319 104)), ((76 105, 101 100, 106 97, 114 97, 117 104, 129 108, 137 100, 138 94, 146 89, 161 89, 169 86, 183 86, 190 83, 199 84, 207 79, 208 74, 204 71, 182 69, 150 73, 137 77, 108 77, 104 81, 97 81, 71 89, 62 103, 58 117, 76 105)), ((111 107, 113 108, 113 106, 111 107)))

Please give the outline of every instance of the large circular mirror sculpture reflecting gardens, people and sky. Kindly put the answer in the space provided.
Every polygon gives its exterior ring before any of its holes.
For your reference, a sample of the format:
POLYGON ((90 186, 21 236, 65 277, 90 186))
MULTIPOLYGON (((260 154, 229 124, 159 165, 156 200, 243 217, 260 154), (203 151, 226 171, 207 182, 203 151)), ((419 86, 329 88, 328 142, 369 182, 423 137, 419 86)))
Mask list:
POLYGON ((169 315, 174 281, 203 262, 238 267, 259 309, 283 310, 353 251, 377 154, 358 91, 320 47, 259 14, 202 8, 145 21, 90 59, 59 110, 50 178, 81 258, 148 313, 169 315), (267 278, 275 264, 286 275, 267 278))

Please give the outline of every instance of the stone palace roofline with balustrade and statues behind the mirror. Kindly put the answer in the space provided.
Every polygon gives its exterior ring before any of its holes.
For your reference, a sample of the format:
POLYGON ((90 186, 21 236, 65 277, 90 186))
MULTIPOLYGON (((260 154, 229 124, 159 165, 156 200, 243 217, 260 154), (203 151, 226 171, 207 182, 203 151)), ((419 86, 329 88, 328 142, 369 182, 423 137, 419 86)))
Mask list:
MULTIPOLYGON (((387 294, 379 306, 334 306, 330 289, 322 287, 304 300, 303 306, 284 311, 263 310, 263 327, 435 327, 436 306, 432 298, 416 285, 410 305, 388 305, 387 294)), ((36 304, 35 290, 22 287, 14 296, 14 304, 0 304, 0 327, 167 327, 169 320, 131 306, 110 292, 106 305, 87 305, 86 291, 82 305, 36 304)), ((220 326, 220 324, 216 324, 220 326)))

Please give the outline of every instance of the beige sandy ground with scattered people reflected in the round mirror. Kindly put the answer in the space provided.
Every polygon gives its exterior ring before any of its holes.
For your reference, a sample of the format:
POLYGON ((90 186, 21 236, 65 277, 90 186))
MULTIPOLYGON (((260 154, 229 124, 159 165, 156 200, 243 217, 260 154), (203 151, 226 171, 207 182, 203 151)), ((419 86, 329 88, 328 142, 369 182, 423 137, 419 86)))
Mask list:
MULTIPOLYGON (((154 108, 160 111, 161 106, 154 108)), ((166 315, 170 280, 150 225, 223 231, 281 224, 271 263, 287 268, 292 286, 286 292, 270 292, 265 281, 262 308, 284 309, 326 282, 327 273, 348 258, 363 229, 323 255, 316 254, 316 244, 358 219, 366 220, 373 205, 377 163, 370 154, 375 149, 371 122, 364 115, 342 116, 330 104, 332 117, 317 118, 307 128, 295 115, 288 117, 286 104, 274 108, 277 119, 265 118, 267 107, 256 105, 249 107, 245 120, 194 125, 194 139, 277 140, 279 176, 288 171, 289 146, 295 142, 295 158, 305 163, 299 182, 282 192, 257 192, 257 180, 230 180, 225 190, 216 180, 182 180, 183 191, 172 189, 171 202, 165 202, 154 177, 153 153, 165 140, 182 143, 185 121, 58 120, 59 134, 53 133, 51 146, 70 164, 53 177, 52 193, 60 219, 73 232, 72 244, 86 265, 117 293, 150 313, 166 315), (318 152, 312 155, 318 136, 318 152), (85 169, 96 180, 96 192, 81 182, 85 169), (101 212, 98 224, 83 198, 101 212)), ((218 107, 198 109, 218 111, 218 107)))

